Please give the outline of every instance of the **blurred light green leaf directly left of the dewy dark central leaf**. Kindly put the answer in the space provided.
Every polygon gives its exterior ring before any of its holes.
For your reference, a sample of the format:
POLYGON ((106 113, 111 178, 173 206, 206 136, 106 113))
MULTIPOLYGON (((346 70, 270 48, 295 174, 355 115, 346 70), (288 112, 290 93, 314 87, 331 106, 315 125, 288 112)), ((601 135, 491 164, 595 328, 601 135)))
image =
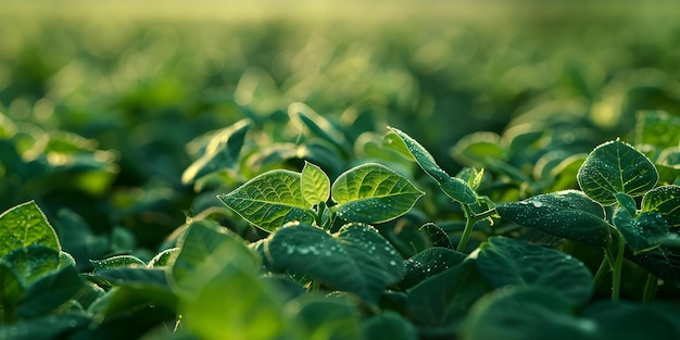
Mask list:
POLYGON ((176 288, 190 294, 230 265, 252 273, 262 266, 241 239, 227 229, 214 229, 205 221, 192 223, 178 245, 181 250, 173 263, 172 278, 176 288))

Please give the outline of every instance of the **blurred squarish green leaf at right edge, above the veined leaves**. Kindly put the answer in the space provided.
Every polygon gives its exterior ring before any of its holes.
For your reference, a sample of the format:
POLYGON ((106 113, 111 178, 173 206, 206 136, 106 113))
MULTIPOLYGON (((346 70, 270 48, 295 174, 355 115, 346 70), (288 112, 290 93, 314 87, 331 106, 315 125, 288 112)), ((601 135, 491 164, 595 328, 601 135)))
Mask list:
POLYGON ((680 117, 664 111, 640 111, 635 124, 635 142, 651 144, 658 149, 678 146, 680 117))

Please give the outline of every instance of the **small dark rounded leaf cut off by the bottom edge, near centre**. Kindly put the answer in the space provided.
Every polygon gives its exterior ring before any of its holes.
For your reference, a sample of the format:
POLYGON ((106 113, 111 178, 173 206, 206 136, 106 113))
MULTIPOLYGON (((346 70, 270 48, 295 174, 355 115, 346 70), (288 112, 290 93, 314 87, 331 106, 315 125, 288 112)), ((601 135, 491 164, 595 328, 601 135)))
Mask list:
POLYGON ((398 313, 385 311, 362 323, 365 339, 370 340, 417 340, 416 328, 398 313))

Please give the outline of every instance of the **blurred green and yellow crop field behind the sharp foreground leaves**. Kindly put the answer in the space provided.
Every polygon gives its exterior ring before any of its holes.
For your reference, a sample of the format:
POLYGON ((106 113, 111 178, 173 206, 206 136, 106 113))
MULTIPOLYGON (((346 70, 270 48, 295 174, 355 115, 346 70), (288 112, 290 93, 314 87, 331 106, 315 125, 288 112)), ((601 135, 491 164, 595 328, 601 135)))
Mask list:
POLYGON ((0 209, 38 200, 119 251, 155 248, 199 212, 187 143, 243 117, 280 141, 293 102, 355 151, 398 127, 451 173, 478 165, 462 138, 513 128, 588 152, 632 139, 639 110, 680 114, 678 17, 677 1, 3 1, 0 209))

